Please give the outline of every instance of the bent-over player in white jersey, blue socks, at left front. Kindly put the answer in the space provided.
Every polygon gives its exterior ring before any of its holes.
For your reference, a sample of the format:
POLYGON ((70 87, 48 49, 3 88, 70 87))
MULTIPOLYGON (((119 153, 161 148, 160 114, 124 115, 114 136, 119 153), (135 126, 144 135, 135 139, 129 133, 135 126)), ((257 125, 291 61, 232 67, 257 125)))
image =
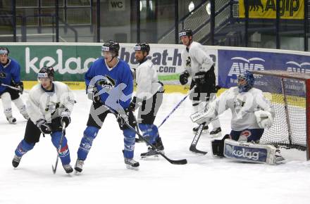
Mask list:
MULTIPOLYGON (((16 148, 13 167, 18 167, 22 156, 34 148, 41 134, 51 134, 51 142, 58 151, 63 124, 66 127, 70 124, 70 113, 75 103, 72 91, 62 82, 54 82, 52 67, 39 70, 38 80, 40 83, 32 87, 26 103, 30 119, 24 139, 16 148)), ((66 136, 63 136, 58 155, 66 173, 73 172, 66 136)))

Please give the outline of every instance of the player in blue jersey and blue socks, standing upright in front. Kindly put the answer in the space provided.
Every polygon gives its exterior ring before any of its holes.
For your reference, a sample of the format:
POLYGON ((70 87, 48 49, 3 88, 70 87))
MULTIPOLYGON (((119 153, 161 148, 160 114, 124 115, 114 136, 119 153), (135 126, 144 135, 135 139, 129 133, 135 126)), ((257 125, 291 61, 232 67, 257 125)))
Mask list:
POLYGON ((133 91, 132 72, 128 63, 118 58, 118 42, 109 40, 101 48, 101 55, 85 74, 87 96, 93 101, 89 112, 87 127, 84 131, 75 163, 76 172, 82 172, 84 161, 92 147, 99 129, 110 112, 103 104, 118 112, 118 125, 124 135, 124 161, 126 167, 137 169, 139 162, 133 160, 135 150, 135 132, 125 122, 135 127, 135 117, 128 110, 133 91))

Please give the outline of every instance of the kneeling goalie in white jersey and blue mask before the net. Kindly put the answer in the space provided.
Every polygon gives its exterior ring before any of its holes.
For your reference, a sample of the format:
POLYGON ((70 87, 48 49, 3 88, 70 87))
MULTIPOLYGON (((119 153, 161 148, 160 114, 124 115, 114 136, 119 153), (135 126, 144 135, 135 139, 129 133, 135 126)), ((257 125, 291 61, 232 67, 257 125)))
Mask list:
POLYGON ((193 122, 208 124, 228 108, 233 116, 231 132, 222 140, 212 141, 213 155, 248 162, 275 164, 284 159, 274 146, 259 144, 264 129, 271 127, 275 112, 263 91, 254 86, 252 72, 238 76, 237 87, 231 87, 209 103, 207 110, 193 114, 193 122))

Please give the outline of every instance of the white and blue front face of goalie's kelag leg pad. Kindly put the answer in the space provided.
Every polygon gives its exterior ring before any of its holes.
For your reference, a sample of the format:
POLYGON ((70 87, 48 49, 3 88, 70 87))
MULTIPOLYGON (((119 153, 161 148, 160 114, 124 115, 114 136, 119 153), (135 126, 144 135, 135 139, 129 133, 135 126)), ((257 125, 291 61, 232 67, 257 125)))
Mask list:
POLYGON ((232 139, 224 141, 224 155, 226 158, 244 162, 266 163, 275 165, 276 148, 271 145, 238 142, 232 139))

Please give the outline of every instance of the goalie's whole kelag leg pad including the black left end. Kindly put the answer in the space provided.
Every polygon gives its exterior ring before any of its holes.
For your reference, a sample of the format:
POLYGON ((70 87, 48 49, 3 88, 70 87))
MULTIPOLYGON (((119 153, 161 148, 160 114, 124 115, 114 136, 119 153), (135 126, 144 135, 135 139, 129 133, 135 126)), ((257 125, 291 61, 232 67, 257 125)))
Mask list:
POLYGON ((229 139, 226 134, 223 139, 211 141, 213 156, 226 157, 244 162, 266 163, 276 165, 277 148, 265 144, 253 144, 249 142, 239 142, 229 139))

